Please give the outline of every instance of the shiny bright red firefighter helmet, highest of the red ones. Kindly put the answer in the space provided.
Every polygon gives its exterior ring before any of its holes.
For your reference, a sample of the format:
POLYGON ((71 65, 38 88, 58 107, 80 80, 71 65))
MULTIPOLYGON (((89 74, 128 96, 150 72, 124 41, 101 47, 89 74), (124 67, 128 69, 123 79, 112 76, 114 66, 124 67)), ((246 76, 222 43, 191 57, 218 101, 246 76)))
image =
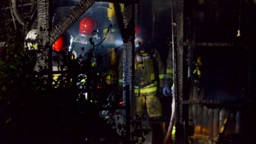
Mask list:
POLYGON ((92 17, 82 18, 79 26, 79 33, 82 35, 91 35, 92 31, 97 27, 97 22, 92 17))

